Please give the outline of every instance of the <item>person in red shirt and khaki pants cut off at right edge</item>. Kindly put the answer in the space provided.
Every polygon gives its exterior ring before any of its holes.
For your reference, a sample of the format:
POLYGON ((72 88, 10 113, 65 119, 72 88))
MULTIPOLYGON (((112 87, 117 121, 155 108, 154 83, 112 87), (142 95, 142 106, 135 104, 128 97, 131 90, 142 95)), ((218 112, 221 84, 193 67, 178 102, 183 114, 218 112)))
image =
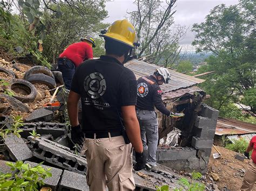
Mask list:
POLYGON ((249 152, 252 151, 252 160, 248 163, 247 171, 245 172, 244 180, 240 190, 252 190, 256 181, 256 136, 251 139, 250 144, 246 148, 245 157, 249 159, 249 152))

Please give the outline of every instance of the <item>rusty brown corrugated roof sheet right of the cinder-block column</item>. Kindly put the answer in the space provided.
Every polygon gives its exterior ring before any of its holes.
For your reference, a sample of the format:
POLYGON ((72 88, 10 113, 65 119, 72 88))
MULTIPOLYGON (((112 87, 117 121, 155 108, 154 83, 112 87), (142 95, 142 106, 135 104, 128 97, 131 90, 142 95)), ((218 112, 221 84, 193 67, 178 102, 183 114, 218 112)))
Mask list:
POLYGON ((256 133, 256 125, 235 119, 218 118, 215 135, 242 135, 256 133))

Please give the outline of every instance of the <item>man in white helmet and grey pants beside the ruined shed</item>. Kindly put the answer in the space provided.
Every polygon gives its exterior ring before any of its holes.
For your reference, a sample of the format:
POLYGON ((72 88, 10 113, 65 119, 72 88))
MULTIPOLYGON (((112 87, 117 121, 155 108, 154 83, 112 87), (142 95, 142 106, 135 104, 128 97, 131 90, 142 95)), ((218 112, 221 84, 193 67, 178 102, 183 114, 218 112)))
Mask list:
POLYGON ((169 83, 169 81, 170 73, 166 68, 157 68, 153 75, 138 79, 136 111, 143 149, 148 150, 147 168, 157 166, 158 122, 154 107, 164 115, 170 116, 172 114, 162 102, 162 91, 159 87, 159 85, 169 83))

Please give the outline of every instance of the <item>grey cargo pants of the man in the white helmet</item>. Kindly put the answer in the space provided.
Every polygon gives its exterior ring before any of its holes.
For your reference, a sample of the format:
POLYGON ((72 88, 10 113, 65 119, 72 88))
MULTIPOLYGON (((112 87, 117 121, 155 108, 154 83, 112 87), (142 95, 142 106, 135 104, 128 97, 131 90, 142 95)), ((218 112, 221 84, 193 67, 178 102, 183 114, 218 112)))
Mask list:
POLYGON ((147 164, 156 166, 157 143, 158 143, 158 123, 155 111, 136 110, 140 126, 140 136, 142 137, 143 149, 147 150, 147 164), (146 146, 147 143, 147 146, 146 146))

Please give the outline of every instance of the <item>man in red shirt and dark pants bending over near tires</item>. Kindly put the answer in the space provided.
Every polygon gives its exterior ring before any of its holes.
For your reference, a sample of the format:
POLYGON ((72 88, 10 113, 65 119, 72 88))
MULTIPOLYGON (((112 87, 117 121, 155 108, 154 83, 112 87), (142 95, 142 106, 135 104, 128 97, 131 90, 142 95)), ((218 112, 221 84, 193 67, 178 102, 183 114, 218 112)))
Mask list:
POLYGON ((83 61, 93 59, 92 47, 96 47, 95 39, 92 36, 86 36, 80 40, 79 43, 69 45, 57 60, 58 69, 62 72, 65 87, 69 90, 76 68, 83 61))

